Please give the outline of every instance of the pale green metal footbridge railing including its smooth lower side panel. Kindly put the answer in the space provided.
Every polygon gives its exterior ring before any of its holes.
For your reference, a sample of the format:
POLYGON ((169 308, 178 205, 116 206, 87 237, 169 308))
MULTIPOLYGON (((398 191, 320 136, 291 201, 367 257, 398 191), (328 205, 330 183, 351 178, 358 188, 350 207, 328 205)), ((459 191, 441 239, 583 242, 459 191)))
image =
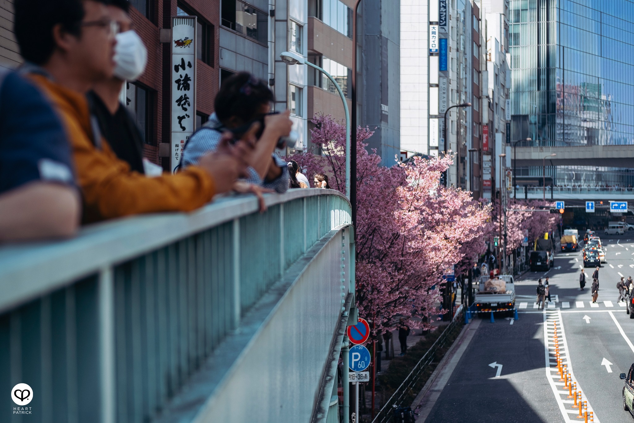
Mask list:
POLYGON ((318 189, 266 203, 0 247, 0 421, 325 421, 353 301, 350 204, 318 189))

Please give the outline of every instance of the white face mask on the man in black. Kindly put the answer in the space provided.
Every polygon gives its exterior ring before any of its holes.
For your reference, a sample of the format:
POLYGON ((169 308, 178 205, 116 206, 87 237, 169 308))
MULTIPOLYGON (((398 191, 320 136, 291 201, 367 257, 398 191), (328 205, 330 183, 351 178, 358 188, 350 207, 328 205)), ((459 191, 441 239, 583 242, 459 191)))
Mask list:
POLYGON ((148 51, 141 37, 133 30, 117 34, 115 46, 115 76, 125 81, 136 81, 145 72, 148 51))

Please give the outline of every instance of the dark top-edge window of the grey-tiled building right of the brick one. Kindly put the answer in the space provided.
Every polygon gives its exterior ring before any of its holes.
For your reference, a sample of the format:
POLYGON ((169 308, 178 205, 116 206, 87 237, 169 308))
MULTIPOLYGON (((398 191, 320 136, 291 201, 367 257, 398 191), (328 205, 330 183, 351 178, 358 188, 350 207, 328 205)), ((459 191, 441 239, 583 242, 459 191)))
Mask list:
POLYGON ((247 3, 238 0, 222 0, 223 27, 233 29, 243 36, 262 44, 268 42, 269 16, 247 3))

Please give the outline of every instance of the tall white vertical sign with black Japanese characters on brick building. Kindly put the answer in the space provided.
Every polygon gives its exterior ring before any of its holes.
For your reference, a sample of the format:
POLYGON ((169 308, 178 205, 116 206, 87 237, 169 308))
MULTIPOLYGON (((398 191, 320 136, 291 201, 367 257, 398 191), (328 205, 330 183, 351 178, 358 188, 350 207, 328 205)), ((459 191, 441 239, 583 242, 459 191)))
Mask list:
POLYGON ((171 169, 178 170, 183 148, 196 129, 196 16, 172 17, 171 169))

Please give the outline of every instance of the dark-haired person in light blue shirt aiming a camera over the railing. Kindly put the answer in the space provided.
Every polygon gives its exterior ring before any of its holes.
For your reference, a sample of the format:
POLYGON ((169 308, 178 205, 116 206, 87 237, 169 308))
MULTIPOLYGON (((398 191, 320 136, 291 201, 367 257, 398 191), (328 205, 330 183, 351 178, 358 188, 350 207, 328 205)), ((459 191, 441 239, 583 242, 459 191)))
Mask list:
MULTIPOLYGON (((291 132, 293 122, 286 110, 271 114, 273 93, 249 72, 229 77, 214 100, 216 112, 193 133, 183 150, 181 167, 195 166, 206 153, 216 150, 224 131, 237 138, 258 122, 258 140, 247 168, 246 182, 284 193, 288 190, 287 163, 275 155, 275 147, 283 146, 283 138, 291 132)), ((237 189, 240 192, 244 190, 237 189)), ((257 195, 257 193, 256 193, 257 195)))

